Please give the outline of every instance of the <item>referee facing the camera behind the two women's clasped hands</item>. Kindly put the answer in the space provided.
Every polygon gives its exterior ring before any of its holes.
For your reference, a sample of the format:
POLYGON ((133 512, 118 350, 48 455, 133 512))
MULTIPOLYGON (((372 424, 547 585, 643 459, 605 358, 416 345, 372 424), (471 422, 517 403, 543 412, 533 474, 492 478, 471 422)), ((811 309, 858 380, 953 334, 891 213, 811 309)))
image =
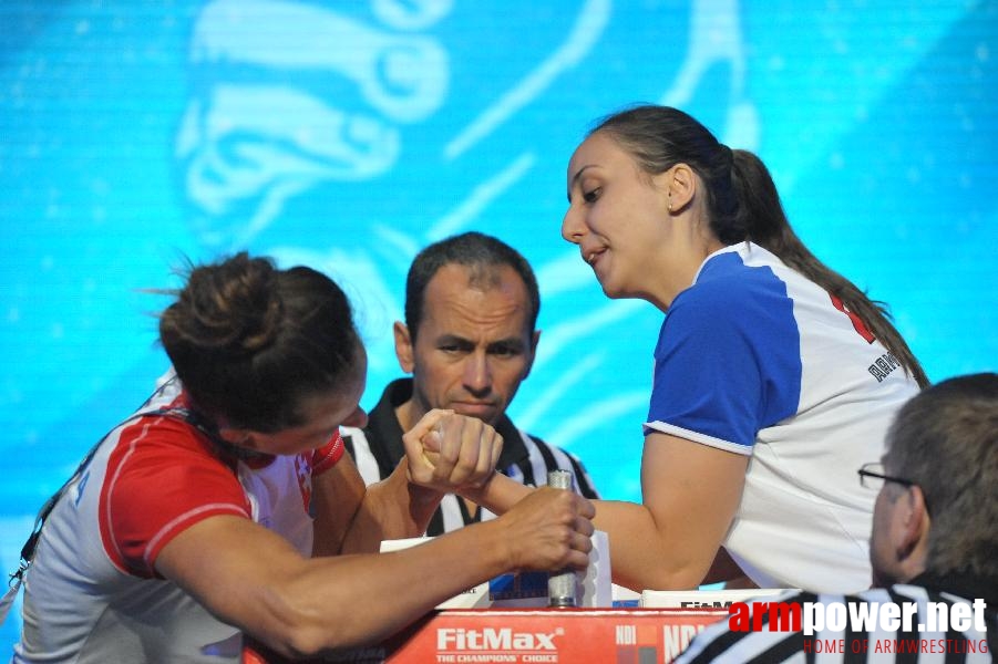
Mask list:
MULTIPOLYGON (((446 408, 477 417, 502 435, 500 473, 541 486, 549 470, 568 470, 577 492, 598 498, 577 457, 517 428, 506 415, 534 361, 539 310, 533 270, 501 240, 466 232, 423 249, 405 281, 405 323, 393 326, 399 365, 412 377, 385 387, 363 429, 342 430, 364 481, 387 477, 405 455, 402 433, 429 411, 446 408)), ((493 516, 445 496, 426 535, 493 516)))

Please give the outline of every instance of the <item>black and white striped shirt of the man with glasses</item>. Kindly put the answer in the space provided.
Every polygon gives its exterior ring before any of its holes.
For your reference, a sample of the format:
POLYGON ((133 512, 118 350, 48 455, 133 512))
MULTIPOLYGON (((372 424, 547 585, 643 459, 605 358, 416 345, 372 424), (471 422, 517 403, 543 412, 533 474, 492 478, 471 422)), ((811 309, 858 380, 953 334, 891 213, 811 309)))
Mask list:
MULTIPOLYGON (((775 612, 763 609, 765 618, 762 630, 735 632, 729 629, 727 619, 721 620, 697 635, 689 647, 675 660, 675 664, 991 662, 992 653, 998 647, 996 585, 998 579, 980 579, 968 574, 948 574, 942 578, 922 574, 906 584, 867 590, 856 595, 800 591, 769 595, 760 598, 758 602, 796 603, 801 606, 809 602, 820 603, 825 612, 831 604, 842 604, 845 629, 815 630, 812 635, 805 635, 803 631, 770 631, 768 619, 775 612), (985 630, 979 630, 979 625, 971 621, 970 629, 963 632, 954 629, 951 624, 936 631, 927 631, 927 627, 934 624, 928 616, 929 602, 945 602, 950 606, 961 603, 968 605, 969 611, 969 605, 978 598, 985 600, 987 605, 984 612, 985 630), (899 608, 897 616, 904 614, 906 605, 917 606, 917 614, 910 620, 910 630, 885 629, 879 620, 872 621, 865 629, 851 624, 848 616, 853 612, 858 612, 857 605, 874 603, 877 604, 877 611, 884 604, 896 604, 899 608), (919 625, 925 626, 926 631, 919 631, 919 625)), ((948 614, 951 615, 953 612, 948 611, 948 614)))

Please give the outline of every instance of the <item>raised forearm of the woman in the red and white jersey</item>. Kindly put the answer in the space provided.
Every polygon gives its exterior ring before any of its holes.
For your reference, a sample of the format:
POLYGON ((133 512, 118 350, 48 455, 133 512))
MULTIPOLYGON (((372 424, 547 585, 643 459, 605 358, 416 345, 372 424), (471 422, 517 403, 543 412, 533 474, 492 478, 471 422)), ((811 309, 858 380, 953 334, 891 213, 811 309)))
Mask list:
POLYGON ((443 495, 409 481, 408 460, 380 483, 370 485, 350 523, 343 553, 378 551, 382 540, 419 537, 443 495))

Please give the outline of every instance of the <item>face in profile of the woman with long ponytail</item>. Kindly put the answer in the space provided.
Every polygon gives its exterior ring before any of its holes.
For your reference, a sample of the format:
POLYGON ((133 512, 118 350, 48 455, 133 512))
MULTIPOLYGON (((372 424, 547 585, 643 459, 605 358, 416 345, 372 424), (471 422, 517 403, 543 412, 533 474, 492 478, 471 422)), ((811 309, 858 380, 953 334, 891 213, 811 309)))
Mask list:
POLYGON ((668 186, 662 176, 644 174, 628 153, 600 132, 586 138, 568 163, 568 211, 562 220, 562 237, 578 245, 607 297, 655 299, 662 268, 660 247, 669 227, 668 186))

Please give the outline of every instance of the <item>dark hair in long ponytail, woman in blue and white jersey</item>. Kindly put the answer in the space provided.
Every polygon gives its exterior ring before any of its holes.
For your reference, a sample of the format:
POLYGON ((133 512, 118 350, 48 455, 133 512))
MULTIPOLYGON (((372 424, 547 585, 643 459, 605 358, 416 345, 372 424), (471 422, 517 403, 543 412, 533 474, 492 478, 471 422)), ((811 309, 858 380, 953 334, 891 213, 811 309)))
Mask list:
POLYGON ((776 185, 751 152, 730 149, 697 120, 668 106, 637 106, 601 121, 603 132, 656 175, 683 163, 703 180, 710 228, 724 245, 752 241, 825 289, 856 315, 919 386, 929 384, 922 364, 891 322, 883 302, 821 262, 790 226, 776 185))

